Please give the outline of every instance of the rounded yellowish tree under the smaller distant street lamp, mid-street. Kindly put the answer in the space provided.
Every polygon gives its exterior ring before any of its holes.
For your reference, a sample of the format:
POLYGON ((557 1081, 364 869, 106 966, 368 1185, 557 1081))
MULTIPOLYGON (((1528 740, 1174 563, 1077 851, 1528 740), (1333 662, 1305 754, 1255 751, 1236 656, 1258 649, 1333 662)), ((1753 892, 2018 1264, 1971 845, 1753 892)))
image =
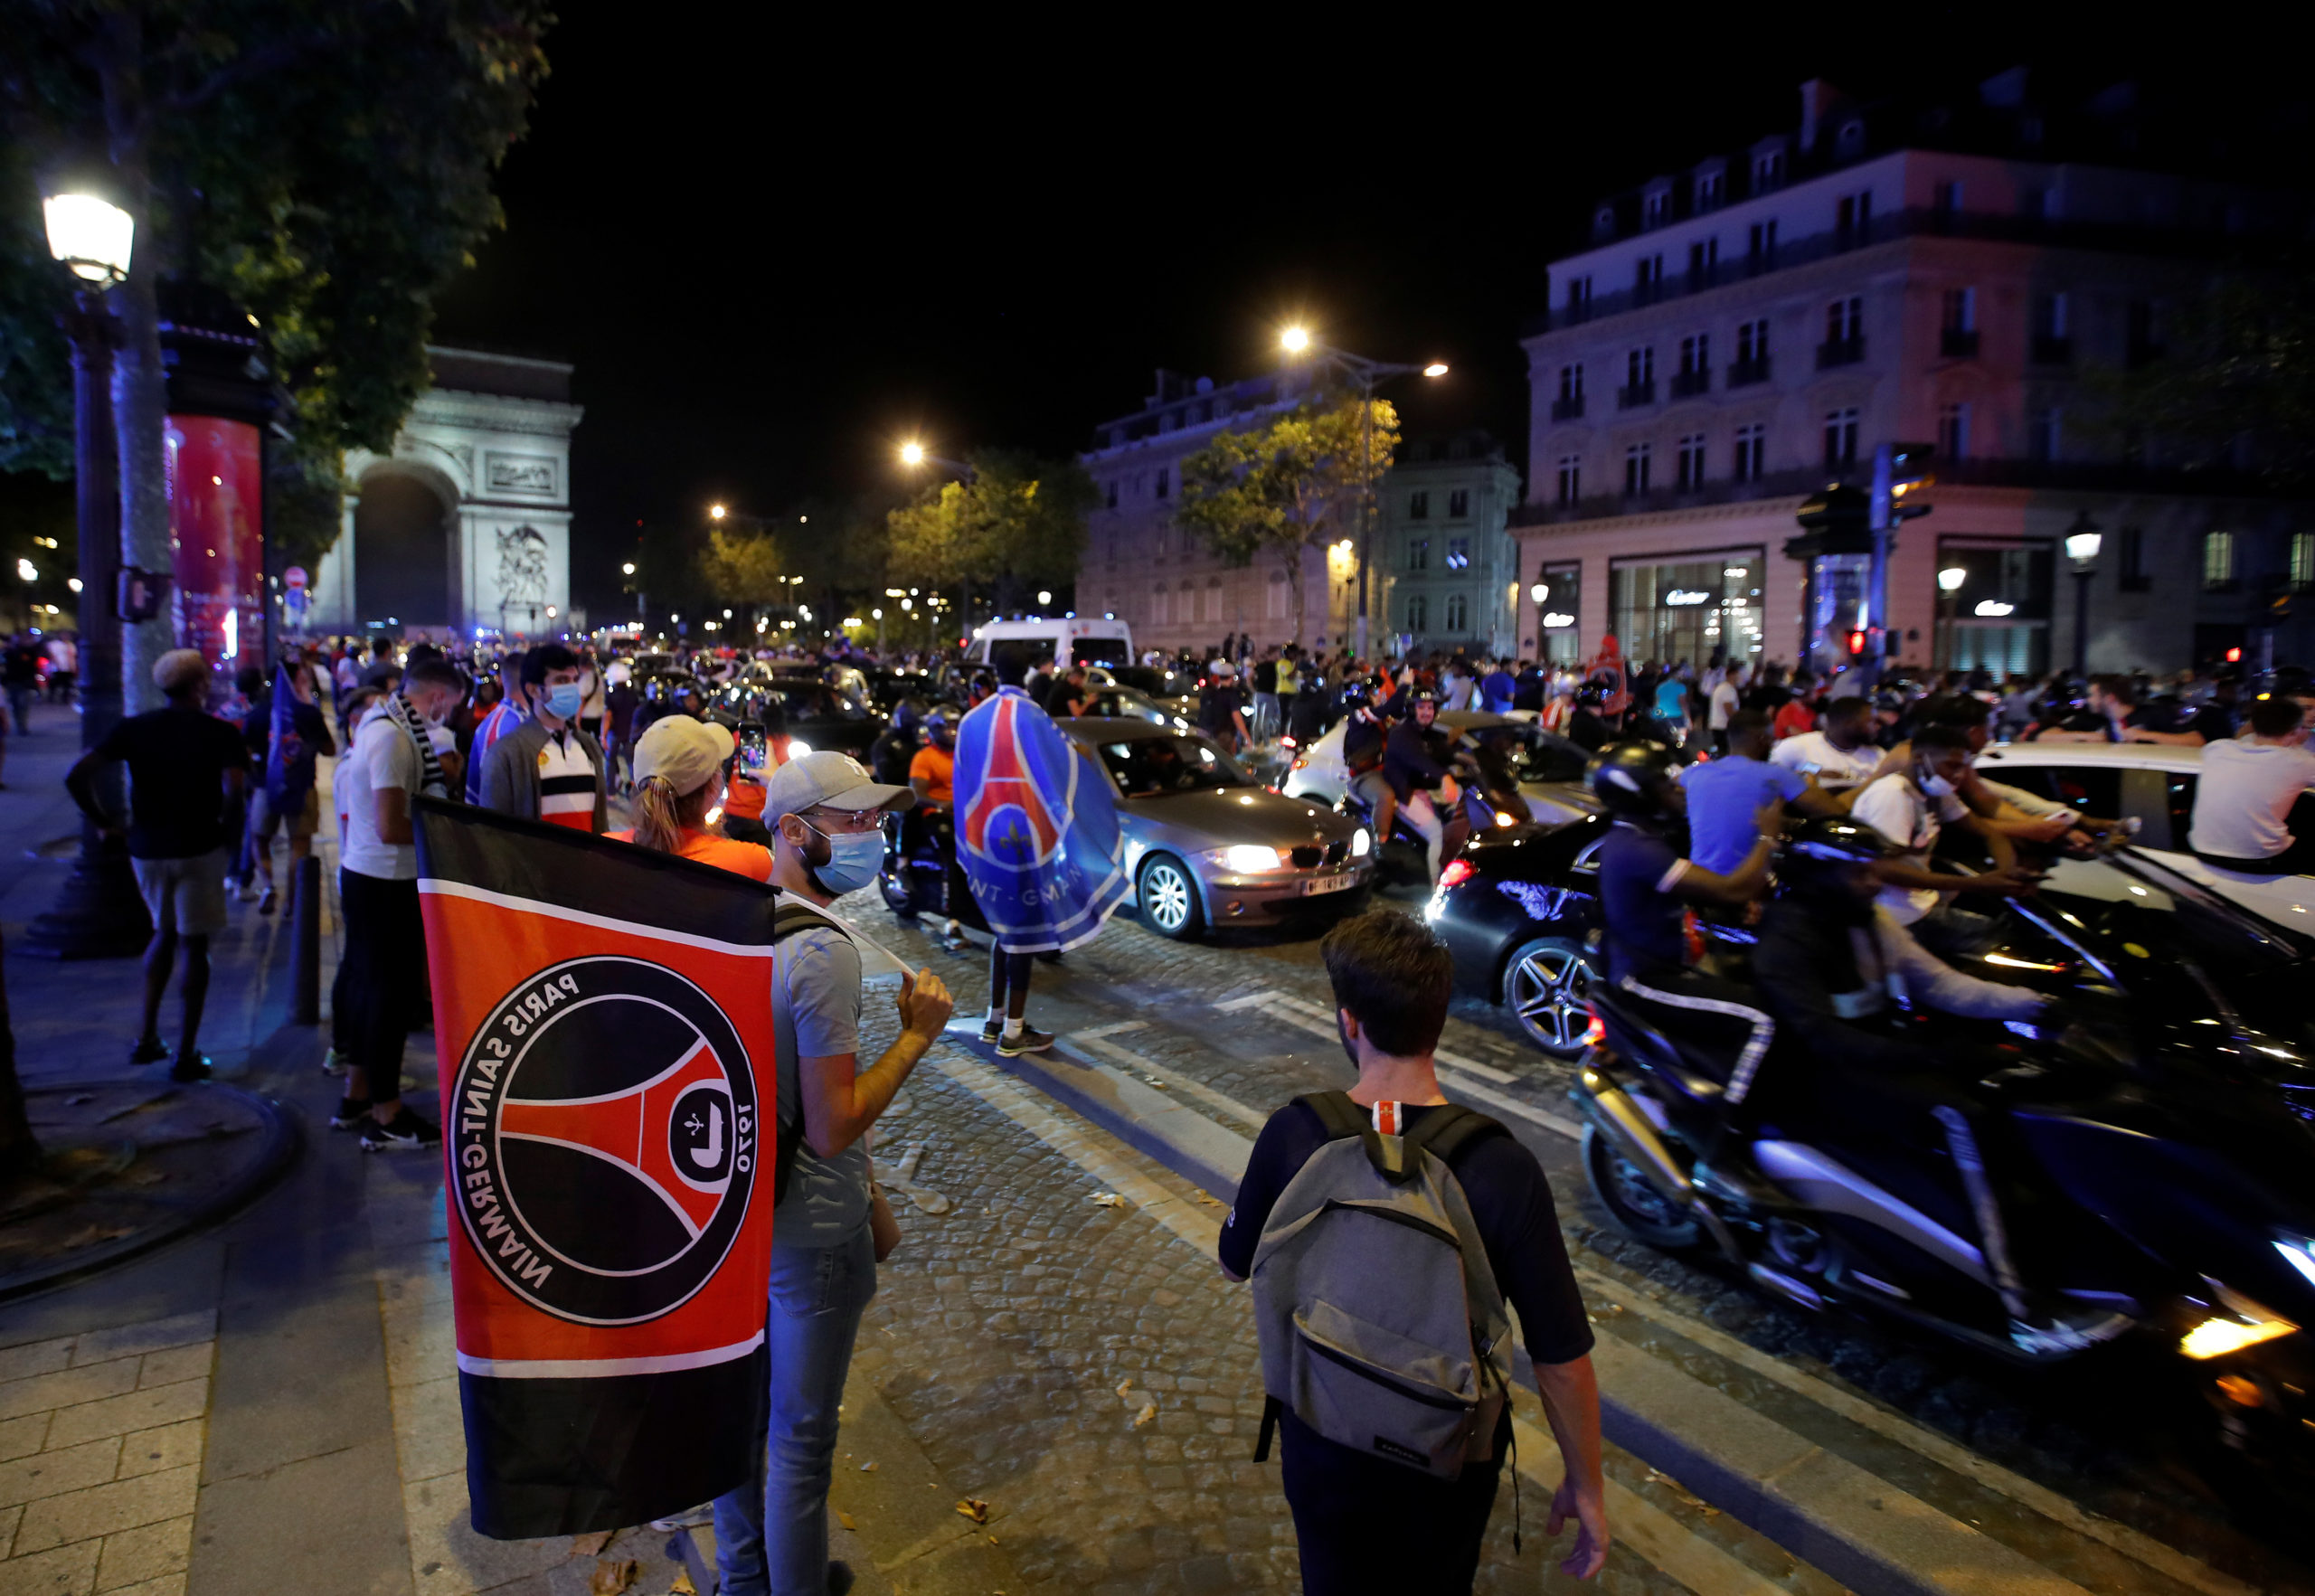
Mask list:
POLYGON ((894 581, 956 591, 970 621, 972 588, 991 586, 998 609, 1039 581, 1070 581, 1086 554, 1093 477, 1076 461, 984 449, 968 482, 942 482, 887 517, 894 581))

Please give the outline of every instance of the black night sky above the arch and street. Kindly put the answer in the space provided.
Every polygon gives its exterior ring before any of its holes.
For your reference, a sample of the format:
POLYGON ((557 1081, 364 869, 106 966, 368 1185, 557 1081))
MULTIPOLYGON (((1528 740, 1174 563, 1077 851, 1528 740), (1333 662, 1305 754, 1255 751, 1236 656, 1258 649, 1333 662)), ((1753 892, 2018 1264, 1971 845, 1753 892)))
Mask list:
POLYGON ((2014 30, 1901 67, 1692 30, 1641 72, 1632 35, 1461 9, 1401 14, 1340 67, 1222 9, 1104 14, 1070 56, 958 12, 877 12, 857 37, 565 14, 502 171, 507 229, 438 338, 576 364, 572 584, 595 607, 637 519, 889 486, 910 435, 1074 452, 1158 366, 1248 375, 1292 317, 1449 361, 1394 391, 1408 431, 1491 426, 1526 466, 1519 324, 1600 195, 1796 125, 1808 76, 1968 93, 2033 60, 2014 30))

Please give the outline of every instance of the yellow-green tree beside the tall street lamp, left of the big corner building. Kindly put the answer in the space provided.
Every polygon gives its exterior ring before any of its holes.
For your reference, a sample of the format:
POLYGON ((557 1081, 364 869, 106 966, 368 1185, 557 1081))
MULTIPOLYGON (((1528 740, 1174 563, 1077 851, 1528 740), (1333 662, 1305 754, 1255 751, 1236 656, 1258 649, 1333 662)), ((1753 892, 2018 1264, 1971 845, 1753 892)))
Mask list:
POLYGON ((1218 433, 1181 463, 1174 521, 1227 565, 1276 554, 1303 635, 1303 549, 1324 549, 1359 526, 1359 505, 1398 452, 1387 398, 1299 405, 1269 426, 1218 433))

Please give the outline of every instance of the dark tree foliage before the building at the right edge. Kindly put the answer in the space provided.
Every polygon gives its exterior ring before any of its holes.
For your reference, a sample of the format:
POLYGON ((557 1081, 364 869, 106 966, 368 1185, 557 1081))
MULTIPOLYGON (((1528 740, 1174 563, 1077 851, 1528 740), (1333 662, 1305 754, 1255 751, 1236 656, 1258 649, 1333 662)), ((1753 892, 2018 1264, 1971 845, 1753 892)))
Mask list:
POLYGON ((2153 438, 2190 463, 2248 461, 2278 484, 2315 479, 2315 262, 2218 278, 2165 334, 2160 359, 2086 373, 2102 433, 2153 438))

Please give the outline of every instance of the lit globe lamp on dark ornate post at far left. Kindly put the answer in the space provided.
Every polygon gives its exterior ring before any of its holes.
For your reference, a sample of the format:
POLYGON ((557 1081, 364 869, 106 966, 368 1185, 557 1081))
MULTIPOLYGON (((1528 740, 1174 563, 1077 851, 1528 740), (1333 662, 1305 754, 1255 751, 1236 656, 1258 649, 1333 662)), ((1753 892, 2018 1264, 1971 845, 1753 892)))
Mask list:
MULTIPOLYGON (((104 294, 130 273, 134 218, 93 190, 58 188, 42 202, 49 252, 74 276, 63 313, 72 341, 72 473, 81 533, 81 748, 95 748, 120 720, 120 621, 113 588, 120 572, 120 461, 113 433, 113 352, 120 317, 104 294)), ((120 811, 120 767, 97 778, 97 799, 120 811)), ((106 843, 81 820, 81 852, 46 915, 25 931, 19 952, 49 959, 116 959, 146 945, 153 922, 137 894, 125 843, 106 843)))

